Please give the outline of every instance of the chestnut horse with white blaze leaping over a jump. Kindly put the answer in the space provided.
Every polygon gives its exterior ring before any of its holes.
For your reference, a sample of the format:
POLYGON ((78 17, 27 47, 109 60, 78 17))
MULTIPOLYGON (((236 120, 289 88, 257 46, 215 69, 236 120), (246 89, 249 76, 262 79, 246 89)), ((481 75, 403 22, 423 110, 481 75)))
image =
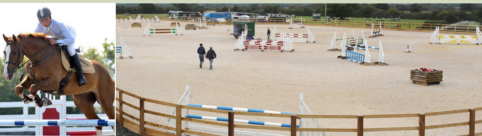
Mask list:
MULTIPOLYGON (((97 101, 109 119, 114 119, 114 81, 107 69, 97 61, 90 60, 95 68, 95 73, 85 73, 87 84, 78 86, 77 74, 72 74, 64 89, 59 90, 61 80, 67 74, 62 66, 61 54, 58 45, 50 45, 43 33, 21 33, 18 36, 6 37, 5 69, 3 77, 12 80, 17 69, 25 65, 27 76, 15 87, 15 93, 24 103, 35 102, 42 107, 46 104, 37 95, 43 91, 52 95, 73 95, 75 105, 82 110, 85 117, 90 120, 100 119, 94 111, 97 101), (30 60, 21 64, 27 56, 30 60), (23 90, 30 89, 30 95, 25 95, 23 90)), ((47 104, 45 105, 47 106, 47 104)), ((112 129, 114 129, 112 127, 112 129)), ((96 126, 97 135, 102 135, 102 127, 96 126)))

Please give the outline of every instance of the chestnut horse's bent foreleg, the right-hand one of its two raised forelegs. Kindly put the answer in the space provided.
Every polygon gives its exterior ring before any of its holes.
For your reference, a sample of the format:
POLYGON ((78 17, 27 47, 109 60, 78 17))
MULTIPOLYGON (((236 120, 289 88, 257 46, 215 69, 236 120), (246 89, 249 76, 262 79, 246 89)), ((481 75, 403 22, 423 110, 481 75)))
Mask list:
POLYGON ((37 92, 40 90, 56 90, 56 87, 59 84, 55 83, 52 78, 47 78, 45 80, 39 81, 34 83, 30 86, 30 95, 31 98, 35 101, 35 104, 38 107, 44 106, 44 102, 40 99, 40 96, 37 95, 37 92))

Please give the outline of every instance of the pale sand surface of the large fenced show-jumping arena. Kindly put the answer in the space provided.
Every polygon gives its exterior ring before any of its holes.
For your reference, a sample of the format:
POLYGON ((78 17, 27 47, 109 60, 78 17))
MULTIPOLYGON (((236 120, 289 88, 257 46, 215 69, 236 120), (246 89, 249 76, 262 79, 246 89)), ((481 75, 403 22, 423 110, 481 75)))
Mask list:
MULTIPOLYGON (((119 20, 116 20, 119 21, 119 20)), ((158 28, 170 27, 172 21, 157 23, 158 28)), ((383 30, 385 36, 368 38, 371 27, 364 28, 368 45, 378 47, 382 41, 385 63, 389 66, 363 66, 337 58, 341 52, 329 52, 333 34, 337 39, 343 32, 347 36, 361 36, 361 28, 310 27, 316 43, 294 42, 295 52, 248 50, 233 51, 237 41, 226 31, 232 25, 208 26, 208 29, 185 30, 191 22, 182 22, 184 35, 154 34, 143 36, 148 23, 142 28, 131 28, 124 22, 116 23, 121 36, 131 49, 133 59, 116 58, 116 86, 142 97, 176 103, 190 85, 190 104, 264 109, 298 113, 298 94, 314 114, 369 115, 401 114, 469 109, 482 106, 482 46, 455 48, 418 53, 404 53, 407 44, 413 51, 471 46, 472 44, 429 44, 431 32, 383 30), (423 37, 423 38, 421 38, 423 37), (213 70, 209 60, 199 68, 196 53, 199 43, 213 46, 218 57, 213 70), (443 82, 419 85, 410 81, 410 69, 436 68, 444 71, 443 82)), ((269 27, 273 33, 306 33, 306 28, 288 29, 288 25, 256 24, 256 38, 266 40, 269 27)), ((155 23, 151 22, 151 28, 155 23)), ((445 33, 441 33, 446 35, 445 33)), ((450 34, 447 34, 450 35, 450 34)), ((456 34, 460 35, 460 34, 456 34)), ((468 34, 466 34, 468 35, 468 34)), ((472 34, 473 35, 473 34, 472 34)), ((271 35, 274 39, 274 34, 271 35)), ((340 43, 337 42, 337 48, 340 43)), ((117 45, 120 37, 117 35, 117 45)), ((359 51, 364 54, 364 52, 359 51)), ((370 49, 372 62, 378 61, 378 51, 370 49)), ((118 95, 118 92, 116 91, 118 95)), ((124 95, 125 101, 139 105, 139 100, 124 95)), ((169 113, 172 108, 147 103, 146 109, 169 113)), ((139 113, 124 106, 134 116, 139 113)), ((190 111, 192 115, 227 118, 227 115, 190 111)), ((426 117, 426 125, 468 122, 468 112, 426 117)), ((290 123, 289 119, 235 116, 236 119, 290 123)), ((482 112, 476 112, 476 120, 482 112)), ((146 115, 151 122, 166 123, 165 118, 146 115)), ((356 128, 356 119, 319 119, 324 128, 356 128)), ((416 127, 418 118, 365 119, 364 128, 416 127)), ((252 129, 236 129, 259 131, 252 129)), ((259 131, 289 135, 283 131, 259 131)), ((476 133, 482 125, 476 124, 476 133)), ((356 133, 327 133, 328 135, 356 135, 356 133)), ((418 131, 366 132, 365 135, 417 135, 418 131)), ((468 127, 451 127, 426 130, 427 135, 466 135, 468 127)))

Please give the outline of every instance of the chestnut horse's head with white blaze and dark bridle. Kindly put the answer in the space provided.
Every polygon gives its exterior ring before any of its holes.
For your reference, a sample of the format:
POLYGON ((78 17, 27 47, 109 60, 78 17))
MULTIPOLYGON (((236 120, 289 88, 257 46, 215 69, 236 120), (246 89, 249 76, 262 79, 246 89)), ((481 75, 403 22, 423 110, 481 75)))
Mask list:
POLYGON ((24 55, 15 35, 12 35, 12 37, 6 37, 5 34, 3 34, 3 39, 6 42, 5 50, 3 51, 3 55, 5 55, 3 78, 9 81, 13 79, 16 69, 23 61, 24 55))

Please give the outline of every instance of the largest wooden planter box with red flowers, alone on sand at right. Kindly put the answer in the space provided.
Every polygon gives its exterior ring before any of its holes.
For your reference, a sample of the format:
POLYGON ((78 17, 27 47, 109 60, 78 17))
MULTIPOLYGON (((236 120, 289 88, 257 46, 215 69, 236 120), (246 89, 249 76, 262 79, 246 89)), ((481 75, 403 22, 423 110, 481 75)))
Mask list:
POLYGON ((412 83, 428 85, 430 83, 440 84, 442 82, 443 71, 425 72, 417 69, 410 70, 410 80, 412 83))

